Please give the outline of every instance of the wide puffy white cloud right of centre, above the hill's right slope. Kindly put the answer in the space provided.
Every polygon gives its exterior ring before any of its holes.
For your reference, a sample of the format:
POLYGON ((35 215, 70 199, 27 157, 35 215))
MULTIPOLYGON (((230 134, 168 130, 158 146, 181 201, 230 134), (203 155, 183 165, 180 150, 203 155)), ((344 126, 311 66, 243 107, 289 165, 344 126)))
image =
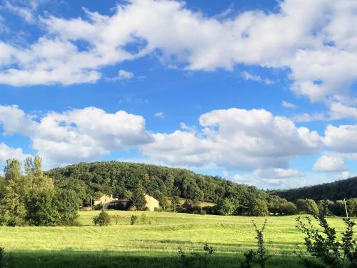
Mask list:
POLYGON ((202 131, 154 134, 144 154, 171 164, 228 169, 287 167, 297 155, 321 148, 316 131, 296 127, 293 121, 263 109, 215 110, 200 116, 202 131))

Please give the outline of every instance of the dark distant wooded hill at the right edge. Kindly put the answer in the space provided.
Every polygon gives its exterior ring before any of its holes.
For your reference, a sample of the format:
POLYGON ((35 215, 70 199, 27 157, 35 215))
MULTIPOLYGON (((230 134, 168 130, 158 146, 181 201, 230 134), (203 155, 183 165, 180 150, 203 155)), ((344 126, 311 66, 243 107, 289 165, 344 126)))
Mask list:
POLYGON ((274 190, 270 194, 276 194, 288 201, 295 201, 299 198, 309 198, 314 200, 349 199, 357 197, 357 177, 343 179, 341 181, 318 184, 310 187, 302 187, 289 190, 274 190))

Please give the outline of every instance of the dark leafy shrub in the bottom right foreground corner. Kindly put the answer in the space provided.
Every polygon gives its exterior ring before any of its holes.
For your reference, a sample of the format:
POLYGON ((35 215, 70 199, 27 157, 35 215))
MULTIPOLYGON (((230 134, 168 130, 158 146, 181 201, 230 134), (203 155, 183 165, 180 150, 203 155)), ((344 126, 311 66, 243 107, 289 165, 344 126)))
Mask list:
MULTIPOLYGON (((300 217, 296 219, 296 227, 306 235, 304 238, 307 252, 316 257, 324 264, 324 267, 343 268, 356 267, 357 241, 353 238, 353 226, 355 223, 351 219, 343 219, 346 224, 346 231, 343 232, 342 243, 336 239, 336 230, 329 227, 322 214, 313 214, 314 219, 322 228, 321 232, 313 227, 311 217, 306 217, 303 222, 300 217), (343 256, 341 256, 343 252, 343 256)), ((311 261, 303 259, 306 267, 319 266, 311 261)))

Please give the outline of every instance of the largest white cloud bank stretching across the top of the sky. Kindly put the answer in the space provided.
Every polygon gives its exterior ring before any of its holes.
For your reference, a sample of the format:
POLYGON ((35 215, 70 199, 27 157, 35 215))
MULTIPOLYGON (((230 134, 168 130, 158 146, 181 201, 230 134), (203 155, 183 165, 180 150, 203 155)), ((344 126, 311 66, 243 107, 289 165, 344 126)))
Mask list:
POLYGON ((341 99, 357 78, 356 10, 356 1, 286 0, 275 13, 219 19, 181 1, 131 0, 110 16, 86 9, 86 19, 47 15, 40 20, 46 33, 31 46, 0 44, 0 83, 94 82, 104 66, 159 51, 163 63, 192 71, 288 67, 297 94, 341 99), (88 46, 79 49, 77 41, 88 46))

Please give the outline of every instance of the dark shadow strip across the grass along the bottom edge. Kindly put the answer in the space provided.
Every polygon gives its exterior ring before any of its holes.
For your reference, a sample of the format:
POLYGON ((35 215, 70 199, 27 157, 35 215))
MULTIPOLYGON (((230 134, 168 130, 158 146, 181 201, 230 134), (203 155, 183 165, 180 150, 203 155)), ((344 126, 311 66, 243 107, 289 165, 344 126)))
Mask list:
MULTIPOLYGON (((215 254, 208 260, 208 267, 239 267, 241 254, 215 254)), ((95 267, 95 268, 138 268, 138 267, 205 267, 204 254, 186 253, 186 262, 174 253, 155 252, 79 252, 71 249, 61 251, 12 251, 4 256, 4 267, 95 267)), ((269 259, 268 267, 301 267, 297 257, 276 256, 269 259)))

